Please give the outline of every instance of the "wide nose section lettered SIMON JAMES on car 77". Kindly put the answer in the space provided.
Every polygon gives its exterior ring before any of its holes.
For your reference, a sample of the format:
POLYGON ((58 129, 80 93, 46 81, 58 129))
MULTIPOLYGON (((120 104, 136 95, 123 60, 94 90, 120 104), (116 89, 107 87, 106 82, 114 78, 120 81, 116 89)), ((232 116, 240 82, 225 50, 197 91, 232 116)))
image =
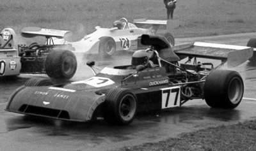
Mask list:
POLYGON ((52 119, 86 122, 92 119, 104 95, 77 92, 59 87, 19 87, 8 100, 7 111, 49 117, 52 119))

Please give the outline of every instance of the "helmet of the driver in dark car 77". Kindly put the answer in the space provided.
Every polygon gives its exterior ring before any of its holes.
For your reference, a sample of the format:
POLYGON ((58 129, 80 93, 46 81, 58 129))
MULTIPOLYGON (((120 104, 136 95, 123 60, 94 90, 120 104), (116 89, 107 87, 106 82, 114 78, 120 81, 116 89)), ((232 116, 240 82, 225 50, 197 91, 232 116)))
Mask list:
POLYGON ((132 55, 132 67, 138 65, 148 66, 148 53, 146 50, 137 50, 132 55))

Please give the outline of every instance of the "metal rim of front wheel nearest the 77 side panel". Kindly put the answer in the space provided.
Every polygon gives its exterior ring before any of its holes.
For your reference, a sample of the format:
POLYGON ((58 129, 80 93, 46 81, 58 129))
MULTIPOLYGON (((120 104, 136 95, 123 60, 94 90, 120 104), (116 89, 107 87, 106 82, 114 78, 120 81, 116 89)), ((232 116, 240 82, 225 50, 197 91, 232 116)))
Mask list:
POLYGON ((122 120, 129 121, 131 120, 136 112, 136 101, 135 97, 131 94, 125 95, 120 101, 119 106, 120 117, 122 120))

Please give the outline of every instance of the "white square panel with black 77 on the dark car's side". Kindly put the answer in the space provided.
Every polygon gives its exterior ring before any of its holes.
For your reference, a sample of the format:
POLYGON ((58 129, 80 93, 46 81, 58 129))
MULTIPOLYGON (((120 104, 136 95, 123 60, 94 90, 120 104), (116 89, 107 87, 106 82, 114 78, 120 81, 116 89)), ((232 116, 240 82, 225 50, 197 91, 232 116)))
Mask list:
POLYGON ((162 90, 162 109, 180 106, 180 87, 167 87, 162 90))

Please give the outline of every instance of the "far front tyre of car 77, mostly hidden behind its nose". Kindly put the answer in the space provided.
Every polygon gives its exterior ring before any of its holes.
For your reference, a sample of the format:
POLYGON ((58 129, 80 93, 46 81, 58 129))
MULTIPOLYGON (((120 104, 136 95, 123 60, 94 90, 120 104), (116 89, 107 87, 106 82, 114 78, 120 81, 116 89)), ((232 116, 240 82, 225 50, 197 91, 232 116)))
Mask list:
POLYGON ((30 78, 26 83, 25 87, 36 87, 36 86, 47 86, 53 85, 51 80, 45 78, 30 78))

